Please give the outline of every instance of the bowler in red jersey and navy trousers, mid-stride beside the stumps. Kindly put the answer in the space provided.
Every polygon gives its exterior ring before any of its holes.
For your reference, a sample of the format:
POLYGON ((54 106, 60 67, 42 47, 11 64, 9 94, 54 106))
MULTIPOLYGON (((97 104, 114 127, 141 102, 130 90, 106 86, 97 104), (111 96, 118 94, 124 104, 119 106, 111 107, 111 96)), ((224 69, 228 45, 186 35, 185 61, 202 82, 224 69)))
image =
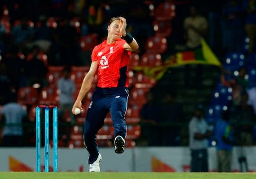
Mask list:
POLYGON ((73 114, 76 114, 76 108, 82 110, 82 100, 91 89, 97 74, 98 84, 87 110, 83 133, 86 149, 89 152, 90 172, 100 172, 101 155, 96 134, 103 126, 109 111, 115 129, 115 152, 117 154, 124 152, 127 129, 125 113, 129 97, 128 64, 131 51, 139 48, 137 41, 126 33, 126 25, 126 19, 123 17, 111 18, 107 28, 107 40, 94 47, 90 70, 84 77, 72 109, 73 114))

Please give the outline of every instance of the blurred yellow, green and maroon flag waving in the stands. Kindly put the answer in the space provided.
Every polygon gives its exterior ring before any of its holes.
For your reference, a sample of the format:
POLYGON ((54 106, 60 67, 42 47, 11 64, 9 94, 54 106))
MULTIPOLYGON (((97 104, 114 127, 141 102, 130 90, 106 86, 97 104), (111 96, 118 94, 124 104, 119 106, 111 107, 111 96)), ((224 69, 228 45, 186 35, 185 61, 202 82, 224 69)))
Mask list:
POLYGON ((205 40, 201 40, 201 48, 195 49, 193 51, 178 52, 157 67, 145 67, 136 66, 135 71, 143 71, 150 78, 159 80, 162 78, 164 73, 169 67, 175 67, 186 64, 205 64, 205 65, 215 65, 221 66, 221 63, 217 56, 212 52, 211 48, 206 44, 205 40))

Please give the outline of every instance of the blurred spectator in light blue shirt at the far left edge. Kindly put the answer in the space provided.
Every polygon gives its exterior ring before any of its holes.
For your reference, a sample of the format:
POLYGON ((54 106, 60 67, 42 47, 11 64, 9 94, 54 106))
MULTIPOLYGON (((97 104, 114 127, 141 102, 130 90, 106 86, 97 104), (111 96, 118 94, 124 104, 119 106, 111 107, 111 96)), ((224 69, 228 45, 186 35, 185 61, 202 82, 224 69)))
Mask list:
POLYGON ((13 94, 9 98, 9 103, 2 107, 0 122, 4 123, 2 133, 3 147, 23 146, 23 122, 27 120, 27 112, 17 103, 17 96, 13 94))

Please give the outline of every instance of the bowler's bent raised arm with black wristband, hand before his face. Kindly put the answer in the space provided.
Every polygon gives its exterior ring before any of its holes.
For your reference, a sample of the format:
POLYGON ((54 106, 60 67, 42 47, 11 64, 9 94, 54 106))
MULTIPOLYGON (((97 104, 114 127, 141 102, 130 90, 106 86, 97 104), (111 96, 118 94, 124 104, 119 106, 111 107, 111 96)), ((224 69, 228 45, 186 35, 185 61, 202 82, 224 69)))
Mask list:
POLYGON ((124 49, 128 51, 138 50, 139 45, 137 41, 129 33, 126 33, 126 26, 126 19, 120 17, 119 29, 123 39, 126 41, 126 43, 124 44, 124 49))

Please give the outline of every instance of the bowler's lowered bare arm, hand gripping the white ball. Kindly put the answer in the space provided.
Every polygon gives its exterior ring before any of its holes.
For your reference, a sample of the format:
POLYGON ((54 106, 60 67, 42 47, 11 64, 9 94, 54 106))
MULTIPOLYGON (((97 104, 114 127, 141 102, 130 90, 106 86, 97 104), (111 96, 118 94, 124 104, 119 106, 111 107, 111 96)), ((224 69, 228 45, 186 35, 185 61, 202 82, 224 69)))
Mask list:
POLYGON ((97 69, 98 69, 98 62, 97 61, 92 62, 90 70, 89 70, 89 72, 84 77, 81 89, 80 89, 80 91, 78 93, 78 96, 76 98, 76 101, 75 101, 75 103, 73 105, 73 108, 72 108, 72 113, 73 114, 76 114, 75 113, 75 109, 76 108, 79 108, 79 109, 83 110, 82 109, 82 100, 85 97, 85 95, 87 94, 87 92, 92 87, 92 83, 93 83, 95 74, 97 72, 97 69))

